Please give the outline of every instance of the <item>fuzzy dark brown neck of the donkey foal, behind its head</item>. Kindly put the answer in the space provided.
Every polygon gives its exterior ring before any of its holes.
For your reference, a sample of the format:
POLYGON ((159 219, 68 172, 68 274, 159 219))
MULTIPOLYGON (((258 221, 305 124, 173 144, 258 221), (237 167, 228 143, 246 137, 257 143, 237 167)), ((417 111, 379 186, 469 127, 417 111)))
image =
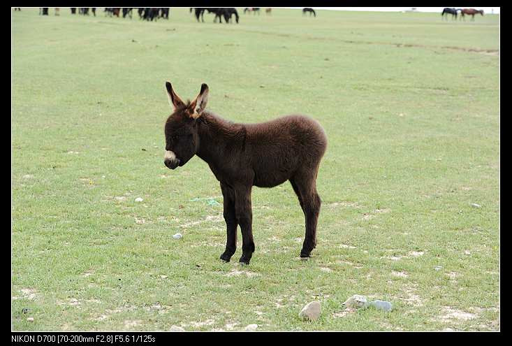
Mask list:
POLYGON ((197 156, 210 166, 224 164, 233 151, 242 149, 246 130, 242 124, 234 124, 205 111, 198 126, 199 147, 197 156))

